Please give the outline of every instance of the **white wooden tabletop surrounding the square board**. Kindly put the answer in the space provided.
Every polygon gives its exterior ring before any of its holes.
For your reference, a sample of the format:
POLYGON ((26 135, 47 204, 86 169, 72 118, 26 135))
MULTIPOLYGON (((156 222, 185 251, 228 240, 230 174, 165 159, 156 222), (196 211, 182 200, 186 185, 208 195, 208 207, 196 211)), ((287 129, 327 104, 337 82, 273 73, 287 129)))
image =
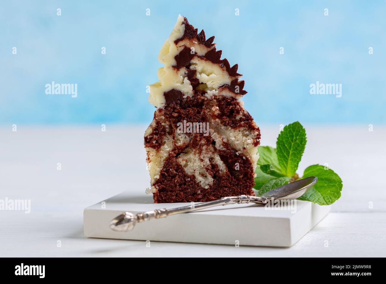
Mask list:
MULTIPOLYGON (((261 144, 275 146, 279 126, 260 127, 261 144)), ((386 128, 376 125, 305 125, 298 173, 328 163, 344 185, 332 213, 291 248, 85 238, 85 207, 149 186, 145 128, 1 126, 0 199, 30 199, 31 212, 0 211, 0 257, 386 256, 386 128)))

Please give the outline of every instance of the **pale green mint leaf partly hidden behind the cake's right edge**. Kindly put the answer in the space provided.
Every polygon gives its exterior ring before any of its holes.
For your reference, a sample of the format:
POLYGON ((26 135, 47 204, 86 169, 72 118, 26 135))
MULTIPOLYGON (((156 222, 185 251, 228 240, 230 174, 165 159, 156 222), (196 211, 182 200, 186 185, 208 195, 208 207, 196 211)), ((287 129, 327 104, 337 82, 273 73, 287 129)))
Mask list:
POLYGON ((275 148, 269 146, 259 146, 257 148, 257 152, 259 153, 259 160, 257 160, 255 186, 253 188, 259 190, 268 180, 275 178, 262 172, 260 166, 264 164, 273 164, 277 169, 280 167, 275 148))

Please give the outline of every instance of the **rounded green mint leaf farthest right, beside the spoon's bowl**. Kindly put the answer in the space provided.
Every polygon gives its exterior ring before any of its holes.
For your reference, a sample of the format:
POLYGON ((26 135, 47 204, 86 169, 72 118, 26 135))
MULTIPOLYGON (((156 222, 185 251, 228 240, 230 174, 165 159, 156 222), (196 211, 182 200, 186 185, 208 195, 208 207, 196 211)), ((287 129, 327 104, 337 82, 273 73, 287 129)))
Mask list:
POLYGON ((330 205, 337 201, 343 187, 339 175, 322 165, 312 165, 304 170, 302 179, 313 175, 318 178, 317 183, 298 199, 320 205, 330 205))

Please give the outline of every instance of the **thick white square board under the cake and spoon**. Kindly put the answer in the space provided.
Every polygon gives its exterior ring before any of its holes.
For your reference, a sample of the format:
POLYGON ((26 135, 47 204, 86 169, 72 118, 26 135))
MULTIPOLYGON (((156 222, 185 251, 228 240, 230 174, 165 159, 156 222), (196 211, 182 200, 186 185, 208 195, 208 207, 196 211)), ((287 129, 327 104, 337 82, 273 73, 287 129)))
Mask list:
POLYGON ((235 245, 238 241, 239 245, 290 247, 330 211, 330 206, 299 200, 296 207, 285 210, 232 204, 137 223, 128 232, 113 231, 109 226, 110 221, 124 211, 139 213, 187 205, 190 203, 155 204, 152 195, 138 196, 125 191, 84 210, 84 233, 91 238, 225 245, 235 245))

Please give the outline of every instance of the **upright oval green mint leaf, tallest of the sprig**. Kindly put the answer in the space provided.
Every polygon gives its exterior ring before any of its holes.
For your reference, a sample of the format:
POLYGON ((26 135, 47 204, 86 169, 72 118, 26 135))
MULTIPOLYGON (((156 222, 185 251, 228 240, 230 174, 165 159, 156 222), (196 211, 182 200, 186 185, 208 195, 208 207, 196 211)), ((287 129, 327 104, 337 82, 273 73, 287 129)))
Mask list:
POLYGON ((306 146, 306 130, 296 121, 284 127, 276 141, 276 153, 281 172, 292 177, 298 169, 306 146))

